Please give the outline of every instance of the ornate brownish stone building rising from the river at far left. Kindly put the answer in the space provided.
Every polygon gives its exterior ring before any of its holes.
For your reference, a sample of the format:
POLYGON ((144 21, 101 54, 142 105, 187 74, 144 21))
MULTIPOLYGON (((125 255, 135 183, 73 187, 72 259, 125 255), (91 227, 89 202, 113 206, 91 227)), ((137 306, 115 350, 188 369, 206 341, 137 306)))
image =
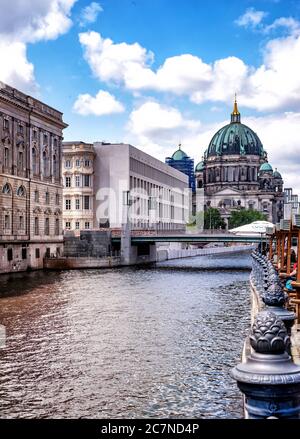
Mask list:
POLYGON ((0 273, 62 253, 62 113, 0 83, 0 273))

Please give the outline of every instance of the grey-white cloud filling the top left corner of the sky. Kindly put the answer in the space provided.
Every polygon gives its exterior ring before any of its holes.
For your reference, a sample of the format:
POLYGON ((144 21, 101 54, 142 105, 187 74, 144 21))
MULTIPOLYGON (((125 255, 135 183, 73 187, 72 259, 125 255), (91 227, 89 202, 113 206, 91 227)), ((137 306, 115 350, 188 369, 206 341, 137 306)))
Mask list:
POLYGON ((72 25, 76 0, 0 0, 0 80, 35 93, 34 66, 27 59, 26 44, 53 40, 72 25))

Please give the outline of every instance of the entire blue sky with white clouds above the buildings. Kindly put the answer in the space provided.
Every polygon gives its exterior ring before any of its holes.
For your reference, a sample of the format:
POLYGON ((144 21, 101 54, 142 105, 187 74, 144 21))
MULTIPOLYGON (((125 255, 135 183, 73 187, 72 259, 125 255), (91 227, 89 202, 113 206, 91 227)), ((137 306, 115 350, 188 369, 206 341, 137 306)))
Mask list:
POLYGON ((0 0, 0 81, 62 111, 66 141, 197 164, 241 120, 300 195, 299 0, 0 0))

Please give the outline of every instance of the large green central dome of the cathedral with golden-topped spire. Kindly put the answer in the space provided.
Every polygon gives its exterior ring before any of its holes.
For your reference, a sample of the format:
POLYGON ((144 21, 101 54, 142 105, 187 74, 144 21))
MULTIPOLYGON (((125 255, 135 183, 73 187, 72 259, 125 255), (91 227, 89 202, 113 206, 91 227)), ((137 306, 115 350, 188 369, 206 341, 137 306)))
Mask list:
POLYGON ((263 145, 258 135, 247 125, 241 123, 235 100, 231 122, 222 127, 210 141, 206 156, 258 155, 264 156, 263 145))

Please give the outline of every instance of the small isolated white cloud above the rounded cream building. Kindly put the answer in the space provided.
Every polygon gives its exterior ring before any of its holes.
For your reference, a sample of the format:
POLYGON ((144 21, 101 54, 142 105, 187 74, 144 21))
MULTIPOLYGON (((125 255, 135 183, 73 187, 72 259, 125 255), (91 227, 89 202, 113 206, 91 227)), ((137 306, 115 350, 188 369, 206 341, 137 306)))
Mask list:
POLYGON ((99 90, 96 96, 80 94, 74 103, 73 110, 83 116, 93 114, 103 116, 106 114, 122 113, 124 106, 116 98, 104 90, 99 90))

